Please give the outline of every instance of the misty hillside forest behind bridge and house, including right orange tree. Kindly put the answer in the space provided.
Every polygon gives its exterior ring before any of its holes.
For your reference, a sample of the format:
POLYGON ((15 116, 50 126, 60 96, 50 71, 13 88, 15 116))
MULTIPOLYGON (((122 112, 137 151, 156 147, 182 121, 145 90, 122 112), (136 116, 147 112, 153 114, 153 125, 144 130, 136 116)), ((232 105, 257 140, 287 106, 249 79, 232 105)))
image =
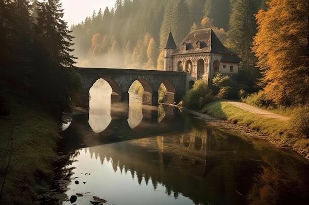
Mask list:
POLYGON ((79 67, 162 70, 169 31, 180 44, 212 28, 242 59, 234 82, 219 78, 219 87, 228 84, 234 98, 263 90, 259 106, 306 104, 308 14, 304 0, 116 0, 72 25, 74 55, 79 67))

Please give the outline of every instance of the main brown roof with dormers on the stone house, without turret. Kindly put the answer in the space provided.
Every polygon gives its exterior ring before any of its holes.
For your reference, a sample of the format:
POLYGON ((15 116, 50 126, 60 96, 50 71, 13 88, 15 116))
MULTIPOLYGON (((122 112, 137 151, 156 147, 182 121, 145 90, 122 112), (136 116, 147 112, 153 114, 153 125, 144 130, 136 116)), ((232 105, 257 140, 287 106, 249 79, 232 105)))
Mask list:
POLYGON ((181 49, 181 47, 178 47, 173 52, 172 56, 211 52, 223 54, 225 56, 225 60, 232 60, 229 62, 240 62, 241 60, 237 57, 236 54, 232 52, 232 50, 226 48, 221 43, 221 41, 212 29, 194 30, 186 36, 186 38, 181 42, 180 45, 184 45, 184 43, 190 43, 190 49, 183 50, 181 49), (202 43, 202 46, 200 46, 199 49, 197 47, 198 42, 202 43))

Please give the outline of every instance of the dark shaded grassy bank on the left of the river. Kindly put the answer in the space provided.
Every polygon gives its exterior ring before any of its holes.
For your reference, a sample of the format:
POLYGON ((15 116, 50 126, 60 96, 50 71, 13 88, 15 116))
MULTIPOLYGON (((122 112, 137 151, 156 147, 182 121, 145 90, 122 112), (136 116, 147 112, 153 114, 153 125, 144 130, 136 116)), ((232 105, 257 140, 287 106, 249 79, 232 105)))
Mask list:
POLYGON ((0 204, 39 204, 52 179, 59 124, 39 108, 17 102, 10 108, 0 117, 0 204))

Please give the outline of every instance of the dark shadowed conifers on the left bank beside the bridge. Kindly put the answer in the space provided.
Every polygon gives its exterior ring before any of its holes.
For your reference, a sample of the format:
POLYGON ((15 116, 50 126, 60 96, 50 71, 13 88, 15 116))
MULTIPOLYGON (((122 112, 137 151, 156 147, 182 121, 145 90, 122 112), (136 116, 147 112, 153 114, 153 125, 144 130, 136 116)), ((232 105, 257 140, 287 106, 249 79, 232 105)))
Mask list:
POLYGON ((21 101, 61 117, 78 84, 60 0, 0 1, 0 115, 21 101))

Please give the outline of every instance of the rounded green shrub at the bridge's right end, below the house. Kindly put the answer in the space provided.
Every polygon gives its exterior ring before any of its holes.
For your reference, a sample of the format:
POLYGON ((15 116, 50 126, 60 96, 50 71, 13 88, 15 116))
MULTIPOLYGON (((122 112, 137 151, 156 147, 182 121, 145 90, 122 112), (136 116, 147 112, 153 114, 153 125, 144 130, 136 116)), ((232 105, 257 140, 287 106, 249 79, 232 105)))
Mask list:
POLYGON ((193 88, 183 97, 184 106, 188 109, 200 110, 206 103, 213 100, 212 90, 203 80, 197 80, 193 88))

